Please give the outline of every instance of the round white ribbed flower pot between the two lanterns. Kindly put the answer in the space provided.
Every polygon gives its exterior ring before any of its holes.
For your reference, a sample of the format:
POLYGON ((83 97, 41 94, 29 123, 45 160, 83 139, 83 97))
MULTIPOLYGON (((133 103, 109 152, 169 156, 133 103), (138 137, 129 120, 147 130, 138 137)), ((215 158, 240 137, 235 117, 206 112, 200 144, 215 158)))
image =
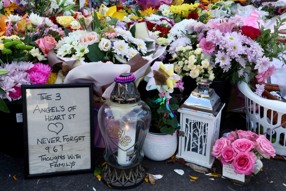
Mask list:
POLYGON ((151 160, 166 160, 175 153, 178 146, 177 133, 167 135, 164 133, 147 133, 143 144, 144 156, 151 160))

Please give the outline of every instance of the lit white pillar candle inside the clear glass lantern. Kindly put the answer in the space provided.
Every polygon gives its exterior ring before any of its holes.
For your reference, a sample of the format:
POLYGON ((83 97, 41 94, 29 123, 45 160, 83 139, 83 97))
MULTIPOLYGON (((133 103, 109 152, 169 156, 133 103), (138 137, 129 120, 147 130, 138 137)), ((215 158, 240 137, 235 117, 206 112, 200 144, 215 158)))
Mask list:
POLYGON ((120 114, 120 127, 122 134, 118 142, 117 161, 120 165, 128 165, 134 155, 136 138, 137 113, 129 112, 120 114))

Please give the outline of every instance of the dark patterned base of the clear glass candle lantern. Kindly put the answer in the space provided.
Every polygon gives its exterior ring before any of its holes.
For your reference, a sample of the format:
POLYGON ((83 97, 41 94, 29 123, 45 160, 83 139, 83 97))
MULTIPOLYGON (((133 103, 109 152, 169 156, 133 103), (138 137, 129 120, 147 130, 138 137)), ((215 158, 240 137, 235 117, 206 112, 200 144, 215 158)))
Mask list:
POLYGON ((101 171, 102 181, 115 189, 130 189, 142 184, 145 177, 145 170, 139 164, 132 168, 114 168, 106 165, 101 171))

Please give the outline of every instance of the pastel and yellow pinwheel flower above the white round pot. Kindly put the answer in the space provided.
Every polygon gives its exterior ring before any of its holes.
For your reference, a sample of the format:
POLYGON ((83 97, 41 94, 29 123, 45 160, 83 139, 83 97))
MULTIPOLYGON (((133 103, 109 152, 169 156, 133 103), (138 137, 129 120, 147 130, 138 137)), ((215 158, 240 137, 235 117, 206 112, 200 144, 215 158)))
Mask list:
POLYGON ((172 93, 174 91, 174 83, 180 79, 179 75, 174 74, 173 64, 163 64, 162 62, 155 62, 151 66, 151 72, 144 78, 147 82, 147 91, 157 89, 160 93, 172 93))

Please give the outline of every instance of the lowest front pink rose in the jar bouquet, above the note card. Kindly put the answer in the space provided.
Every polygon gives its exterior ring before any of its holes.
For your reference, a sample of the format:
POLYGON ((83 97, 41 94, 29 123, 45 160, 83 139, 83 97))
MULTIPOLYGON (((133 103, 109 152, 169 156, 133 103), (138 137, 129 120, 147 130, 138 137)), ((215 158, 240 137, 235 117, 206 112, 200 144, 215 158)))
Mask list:
POLYGON ((254 172, 254 164, 256 162, 254 159, 256 159, 256 156, 252 151, 240 152, 234 157, 231 167, 235 173, 250 175, 254 172))

